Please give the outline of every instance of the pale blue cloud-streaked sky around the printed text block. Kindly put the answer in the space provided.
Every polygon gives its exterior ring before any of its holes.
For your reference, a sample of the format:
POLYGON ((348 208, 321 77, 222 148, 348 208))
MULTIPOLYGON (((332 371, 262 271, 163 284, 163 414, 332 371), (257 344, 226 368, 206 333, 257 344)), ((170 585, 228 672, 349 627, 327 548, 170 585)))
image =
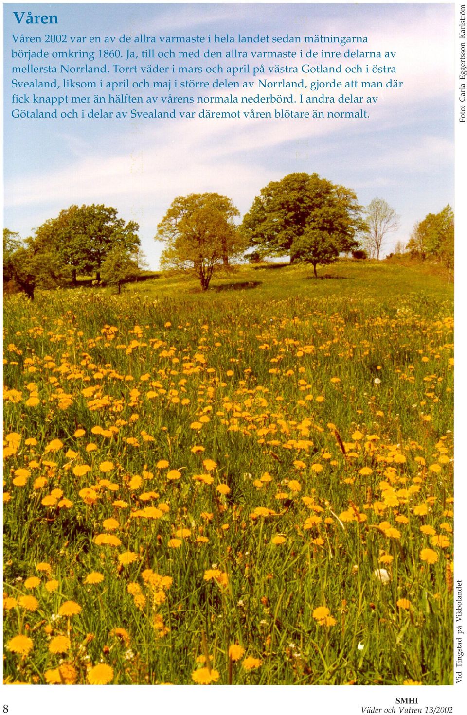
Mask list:
MULTIPOLYGON (((157 268, 162 246, 153 237, 174 197, 218 192, 243 214, 262 187, 290 172, 318 172, 354 189, 361 204, 386 199, 400 215, 388 250, 395 241, 408 240, 416 220, 453 204, 453 4, 36 4, 34 9, 39 7, 58 15, 59 25, 20 27, 13 10, 27 12, 31 5, 4 4, 4 225, 23 237, 71 204, 104 203, 139 223, 149 265, 157 268), (358 121, 12 119, 16 90, 9 69, 15 64, 11 49, 19 46, 12 34, 31 27, 42 35, 54 30, 117 37, 367 35, 363 49, 397 52, 394 64, 404 84, 379 90, 370 119, 358 121)), ((33 77, 41 75, 19 79, 33 77)))

